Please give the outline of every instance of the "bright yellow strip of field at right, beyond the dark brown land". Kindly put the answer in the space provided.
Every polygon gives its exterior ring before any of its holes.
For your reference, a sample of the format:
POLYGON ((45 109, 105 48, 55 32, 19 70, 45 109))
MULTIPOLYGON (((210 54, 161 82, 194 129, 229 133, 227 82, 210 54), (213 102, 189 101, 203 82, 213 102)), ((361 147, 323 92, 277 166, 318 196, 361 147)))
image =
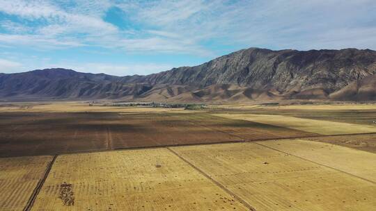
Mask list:
POLYGON ((272 124, 286 128, 303 130, 322 135, 338 135, 353 133, 376 133, 376 126, 350 124, 344 122, 303 119, 283 115, 253 115, 253 114, 217 114, 215 116, 228 119, 256 121, 263 124, 272 124))

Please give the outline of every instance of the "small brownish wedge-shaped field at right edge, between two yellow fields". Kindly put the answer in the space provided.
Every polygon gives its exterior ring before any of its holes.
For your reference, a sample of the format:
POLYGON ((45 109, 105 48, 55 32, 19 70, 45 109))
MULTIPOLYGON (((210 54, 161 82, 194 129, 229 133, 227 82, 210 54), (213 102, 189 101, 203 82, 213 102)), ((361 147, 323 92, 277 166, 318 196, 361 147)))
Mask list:
POLYGON ((376 133, 359 135, 336 135, 327 137, 309 137, 304 138, 304 140, 337 144, 340 146, 347 146, 354 149, 376 153, 376 133))

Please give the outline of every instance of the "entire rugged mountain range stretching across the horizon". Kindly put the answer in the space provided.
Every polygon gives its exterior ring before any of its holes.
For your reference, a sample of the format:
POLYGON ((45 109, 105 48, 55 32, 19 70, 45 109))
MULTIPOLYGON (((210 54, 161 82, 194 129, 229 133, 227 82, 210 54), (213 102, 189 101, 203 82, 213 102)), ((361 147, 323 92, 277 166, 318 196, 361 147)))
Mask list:
POLYGON ((148 76, 43 69, 0 74, 0 98, 130 101, 376 100, 376 51, 245 49, 148 76))

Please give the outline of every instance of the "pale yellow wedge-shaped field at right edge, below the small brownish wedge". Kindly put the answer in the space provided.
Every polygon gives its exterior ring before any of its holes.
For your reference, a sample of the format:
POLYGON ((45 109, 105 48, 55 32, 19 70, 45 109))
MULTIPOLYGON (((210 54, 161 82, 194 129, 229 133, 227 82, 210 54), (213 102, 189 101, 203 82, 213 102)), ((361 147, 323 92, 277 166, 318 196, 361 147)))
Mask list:
POLYGON ((265 141, 260 144, 376 183, 375 153, 307 140, 265 141))

